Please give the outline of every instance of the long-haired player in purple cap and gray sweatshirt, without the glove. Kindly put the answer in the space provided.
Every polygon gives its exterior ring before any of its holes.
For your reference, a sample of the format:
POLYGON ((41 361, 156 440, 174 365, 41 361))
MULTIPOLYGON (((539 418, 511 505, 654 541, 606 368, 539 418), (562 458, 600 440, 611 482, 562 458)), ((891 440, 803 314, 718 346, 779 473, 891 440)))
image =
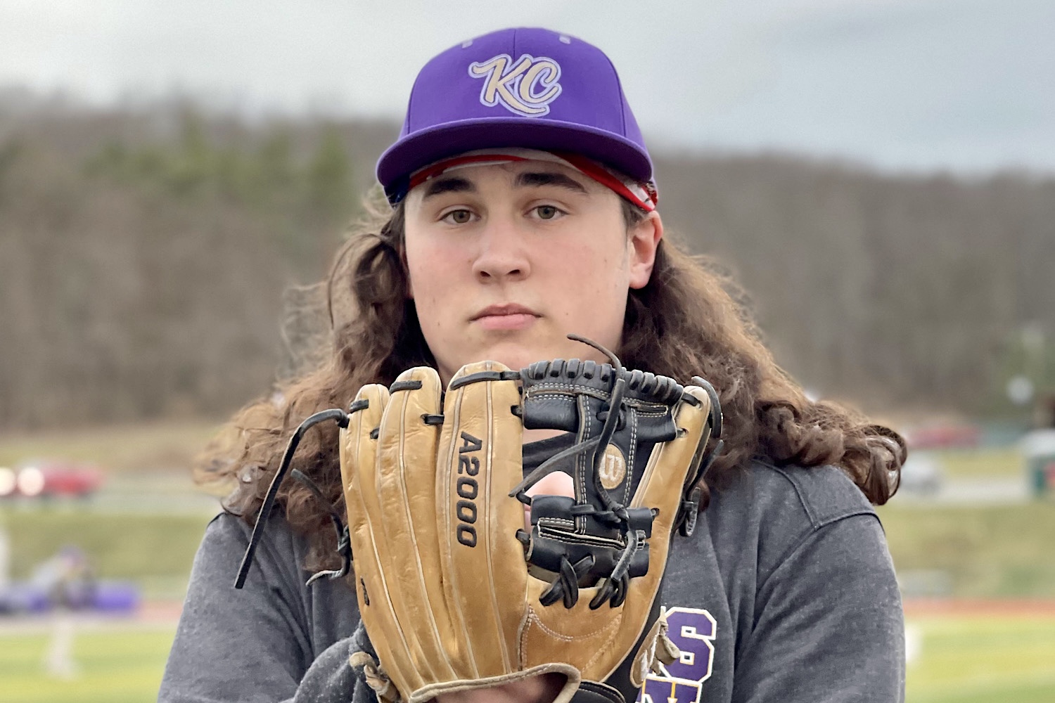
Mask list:
MULTIPOLYGON (((673 536, 657 597, 676 651, 649 669, 640 700, 901 700, 901 602, 870 504, 896 487, 904 443, 808 399, 725 281, 665 238, 661 192, 609 59, 540 28, 464 41, 422 69, 377 174, 386 212, 348 240, 329 279, 330 360, 281 399, 244 409, 234 443, 216 445, 200 467, 236 487, 194 562, 159 700, 409 698, 385 677, 391 662, 378 652, 388 649, 377 645, 410 636, 367 633, 360 622, 370 593, 365 583, 357 593, 356 570, 367 562, 357 556, 352 574, 305 585, 341 565, 331 515, 335 507, 343 516, 347 487, 335 425, 305 432, 292 463, 320 494, 283 483, 244 587, 231 587, 286 443, 312 413, 348 409, 365 385, 392 385, 411 367, 448 384, 484 359, 510 369, 611 360, 569 333, 615 351, 627 369, 702 376, 721 402, 724 446, 691 493, 695 529, 673 536)), ((405 387, 392 386, 394 397, 405 387)), ((449 423, 446 414, 422 419, 449 423)), ((524 473, 575 441, 524 430, 524 473)), ((628 481, 648 461, 644 449, 632 453, 628 481)), ((535 492, 575 493, 567 474, 548 482, 535 492)), ((475 587, 487 599, 503 584, 475 587)), ((567 691, 559 672, 496 684, 437 700, 552 701, 567 691)), ((620 700, 588 692, 574 700, 620 700)))

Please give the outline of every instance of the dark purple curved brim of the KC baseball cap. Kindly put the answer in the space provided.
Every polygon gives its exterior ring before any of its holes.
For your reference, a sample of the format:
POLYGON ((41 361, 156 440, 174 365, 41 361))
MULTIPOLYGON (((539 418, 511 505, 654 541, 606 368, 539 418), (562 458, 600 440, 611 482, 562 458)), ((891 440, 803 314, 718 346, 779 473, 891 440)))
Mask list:
POLYGON ((550 119, 485 117, 439 124, 397 141, 378 160, 378 180, 392 195, 414 171, 434 161, 501 147, 575 152, 635 180, 652 178, 652 161, 640 147, 611 132, 550 119))

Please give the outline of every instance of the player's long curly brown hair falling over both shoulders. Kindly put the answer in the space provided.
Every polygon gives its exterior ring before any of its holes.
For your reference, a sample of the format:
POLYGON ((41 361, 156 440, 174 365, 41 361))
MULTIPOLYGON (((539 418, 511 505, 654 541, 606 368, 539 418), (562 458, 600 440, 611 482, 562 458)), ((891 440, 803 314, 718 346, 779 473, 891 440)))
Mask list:
MULTIPOLYGON (((337 253, 326 281, 331 348, 318 368, 241 410, 198 456, 195 480, 220 485, 225 508, 252 523, 286 443, 309 415, 346 408, 359 388, 391 384, 405 369, 435 362, 413 300, 405 297, 402 206, 375 202, 337 253), (346 314, 342 314, 345 311, 346 314)), ((642 212, 624 203, 628 227, 642 212)), ((628 293, 618 354, 628 368, 675 378, 698 374, 717 389, 725 448, 703 482, 710 490, 752 460, 776 466, 841 467, 875 504, 897 490, 904 440, 844 407, 813 402, 762 344, 743 295, 711 260, 659 242, 649 284, 628 293)), ((338 428, 323 424, 302 440, 293 465, 344 509, 338 428)), ((310 538, 307 568, 332 566, 335 534, 329 511, 306 487, 287 481, 277 504, 294 530, 310 538)))

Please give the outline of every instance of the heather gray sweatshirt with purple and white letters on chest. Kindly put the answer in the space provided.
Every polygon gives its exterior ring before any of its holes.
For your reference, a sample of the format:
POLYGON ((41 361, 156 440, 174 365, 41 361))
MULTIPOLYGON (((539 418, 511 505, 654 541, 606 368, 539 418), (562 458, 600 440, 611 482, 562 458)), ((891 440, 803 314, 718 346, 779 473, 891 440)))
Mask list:
MULTIPOLYGON (((526 445, 526 469, 557 440, 526 445)), ((245 588, 232 588, 250 531, 229 514, 206 530, 158 700, 376 701, 348 664, 372 652, 354 591, 305 587, 307 541, 277 512, 245 588)), ((644 703, 904 698, 894 566, 875 511, 836 468, 741 471, 693 535, 674 538, 663 605, 683 657, 646 682, 644 703)))

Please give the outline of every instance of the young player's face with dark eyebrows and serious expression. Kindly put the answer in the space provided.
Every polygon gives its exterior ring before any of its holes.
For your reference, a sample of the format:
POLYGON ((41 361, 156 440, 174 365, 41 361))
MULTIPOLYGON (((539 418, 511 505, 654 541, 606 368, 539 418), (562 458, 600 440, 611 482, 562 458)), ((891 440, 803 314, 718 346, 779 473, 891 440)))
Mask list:
POLYGON ((663 236, 657 214, 628 231, 615 193, 548 161, 457 169, 405 208, 408 295, 445 380, 484 359, 608 360, 567 335, 618 349, 663 236))

